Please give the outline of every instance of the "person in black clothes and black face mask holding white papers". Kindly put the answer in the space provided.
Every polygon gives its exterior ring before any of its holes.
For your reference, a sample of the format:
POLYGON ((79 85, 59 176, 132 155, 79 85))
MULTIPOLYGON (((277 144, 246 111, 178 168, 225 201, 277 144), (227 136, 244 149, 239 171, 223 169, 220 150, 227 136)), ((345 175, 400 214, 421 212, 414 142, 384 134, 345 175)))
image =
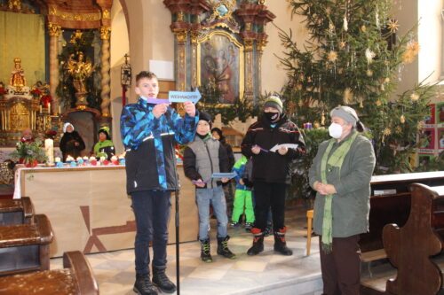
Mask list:
POLYGON ((282 113, 279 97, 266 98, 264 113, 250 126, 242 141, 242 154, 253 159, 253 190, 256 206, 255 221, 251 233, 254 235, 249 255, 264 251, 264 236, 269 208, 272 209, 274 229, 274 251, 282 255, 293 252, 285 242, 287 231, 285 218, 285 195, 291 180, 289 164, 305 152, 305 143, 296 124, 282 113), (270 151, 276 144, 298 144, 297 149, 281 147, 270 151))

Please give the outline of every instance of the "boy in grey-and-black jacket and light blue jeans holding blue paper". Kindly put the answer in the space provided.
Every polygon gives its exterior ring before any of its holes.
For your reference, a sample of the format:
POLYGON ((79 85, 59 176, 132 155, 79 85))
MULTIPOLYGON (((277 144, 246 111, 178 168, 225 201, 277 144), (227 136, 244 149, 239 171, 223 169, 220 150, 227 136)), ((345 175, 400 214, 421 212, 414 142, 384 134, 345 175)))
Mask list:
POLYGON ((211 136, 211 117, 208 113, 200 113, 194 142, 188 144, 184 151, 184 172, 195 185, 195 198, 199 211, 199 240, 201 241, 201 259, 211 262, 210 237, 210 205, 218 220, 218 255, 234 259, 235 255, 228 249, 226 225, 226 198, 222 182, 228 178, 211 178, 215 173, 228 173, 228 157, 225 147, 211 136))

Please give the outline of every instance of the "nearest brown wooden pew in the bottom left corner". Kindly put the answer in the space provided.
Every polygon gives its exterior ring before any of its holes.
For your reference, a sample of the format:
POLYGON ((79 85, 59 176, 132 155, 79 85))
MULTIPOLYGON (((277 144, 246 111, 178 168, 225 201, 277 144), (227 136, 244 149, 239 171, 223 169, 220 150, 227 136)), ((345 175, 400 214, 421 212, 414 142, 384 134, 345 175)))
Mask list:
POLYGON ((63 269, 0 277, 3 295, 94 295, 99 286, 82 252, 65 252, 63 269))

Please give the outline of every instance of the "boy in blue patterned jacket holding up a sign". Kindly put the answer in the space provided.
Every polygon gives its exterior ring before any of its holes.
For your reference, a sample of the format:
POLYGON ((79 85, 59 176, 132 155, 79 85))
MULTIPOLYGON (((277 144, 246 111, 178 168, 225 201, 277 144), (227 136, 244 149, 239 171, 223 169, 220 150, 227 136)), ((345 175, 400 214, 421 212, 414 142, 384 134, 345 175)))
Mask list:
POLYGON ((177 189, 174 145, 193 140, 199 120, 192 102, 185 102, 185 118, 158 99, 159 82, 155 74, 142 71, 136 76, 139 101, 125 105, 120 118, 122 141, 126 149, 126 189, 131 195, 136 217, 136 283, 138 294, 172 293, 176 285, 165 274, 170 193, 177 189), (149 243, 153 242, 153 281, 149 271, 149 243))

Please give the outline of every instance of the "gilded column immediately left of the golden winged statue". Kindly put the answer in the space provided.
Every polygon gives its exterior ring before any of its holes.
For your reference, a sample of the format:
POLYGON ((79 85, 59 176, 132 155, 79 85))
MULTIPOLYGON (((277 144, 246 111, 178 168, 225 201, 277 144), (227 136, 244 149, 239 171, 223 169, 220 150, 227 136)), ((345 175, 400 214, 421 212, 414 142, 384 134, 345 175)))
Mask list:
POLYGON ((48 32, 50 35, 50 93, 52 97, 51 114, 57 114, 59 110, 59 97, 56 95, 56 89, 59 85, 59 35, 60 26, 48 23, 48 32))

